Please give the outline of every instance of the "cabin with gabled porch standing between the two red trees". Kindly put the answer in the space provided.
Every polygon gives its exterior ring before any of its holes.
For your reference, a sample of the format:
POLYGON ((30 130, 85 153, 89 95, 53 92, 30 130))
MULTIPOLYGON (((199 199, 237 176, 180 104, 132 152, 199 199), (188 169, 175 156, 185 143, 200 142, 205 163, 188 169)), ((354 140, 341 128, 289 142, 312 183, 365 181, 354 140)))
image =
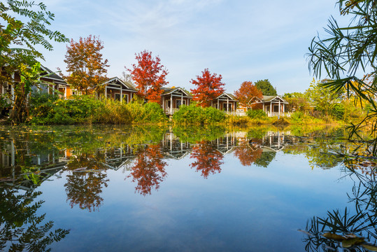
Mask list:
POLYGON ((173 115, 180 105, 190 105, 192 94, 182 87, 162 87, 161 104, 166 115, 173 115))

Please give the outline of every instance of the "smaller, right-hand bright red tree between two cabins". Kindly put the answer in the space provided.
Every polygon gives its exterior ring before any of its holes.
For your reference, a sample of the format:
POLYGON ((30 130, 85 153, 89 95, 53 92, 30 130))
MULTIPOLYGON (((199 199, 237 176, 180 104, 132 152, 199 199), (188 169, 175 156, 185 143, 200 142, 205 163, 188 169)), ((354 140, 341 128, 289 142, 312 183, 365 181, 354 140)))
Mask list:
POLYGON ((191 90, 194 101, 198 102, 202 107, 211 106, 213 99, 225 92, 225 83, 221 82, 221 74, 218 76, 216 73, 210 73, 208 69, 201 72, 201 76, 197 79, 192 79, 190 82, 197 86, 191 90))

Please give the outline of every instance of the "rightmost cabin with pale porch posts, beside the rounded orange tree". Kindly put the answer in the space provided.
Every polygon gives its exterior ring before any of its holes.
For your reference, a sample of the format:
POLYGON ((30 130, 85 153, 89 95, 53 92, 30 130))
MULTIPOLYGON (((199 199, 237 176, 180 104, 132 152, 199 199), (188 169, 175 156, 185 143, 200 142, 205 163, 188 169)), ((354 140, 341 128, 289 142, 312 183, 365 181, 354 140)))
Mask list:
POLYGON ((285 112, 285 107, 288 102, 278 95, 264 95, 262 98, 252 97, 249 102, 250 105, 260 104, 267 116, 290 116, 290 113, 285 112))

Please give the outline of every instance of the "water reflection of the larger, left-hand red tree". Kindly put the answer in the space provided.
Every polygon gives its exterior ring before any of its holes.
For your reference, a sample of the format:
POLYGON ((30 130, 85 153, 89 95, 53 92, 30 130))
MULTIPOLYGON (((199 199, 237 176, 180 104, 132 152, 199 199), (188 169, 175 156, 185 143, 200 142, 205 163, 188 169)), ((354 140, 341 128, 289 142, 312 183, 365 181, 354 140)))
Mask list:
POLYGON ((150 145, 136 154, 136 162, 132 172, 127 178, 132 177, 132 182, 137 181, 136 191, 141 195, 148 195, 152 188, 159 188, 159 183, 164 181, 166 162, 162 161, 159 145, 150 145))

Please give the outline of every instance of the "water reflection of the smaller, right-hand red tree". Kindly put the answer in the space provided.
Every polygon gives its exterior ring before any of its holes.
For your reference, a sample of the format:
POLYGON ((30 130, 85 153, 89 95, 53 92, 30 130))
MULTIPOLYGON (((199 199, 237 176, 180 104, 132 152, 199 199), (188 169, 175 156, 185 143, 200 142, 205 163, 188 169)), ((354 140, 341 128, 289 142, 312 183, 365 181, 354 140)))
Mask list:
POLYGON ((194 158, 197 161, 193 162, 190 166, 196 168, 197 172, 201 171, 201 176, 205 179, 208 178, 209 174, 215 174, 216 172, 221 172, 220 165, 224 155, 220 151, 213 148, 211 142, 201 141, 197 143, 193 148, 190 158, 194 158))

